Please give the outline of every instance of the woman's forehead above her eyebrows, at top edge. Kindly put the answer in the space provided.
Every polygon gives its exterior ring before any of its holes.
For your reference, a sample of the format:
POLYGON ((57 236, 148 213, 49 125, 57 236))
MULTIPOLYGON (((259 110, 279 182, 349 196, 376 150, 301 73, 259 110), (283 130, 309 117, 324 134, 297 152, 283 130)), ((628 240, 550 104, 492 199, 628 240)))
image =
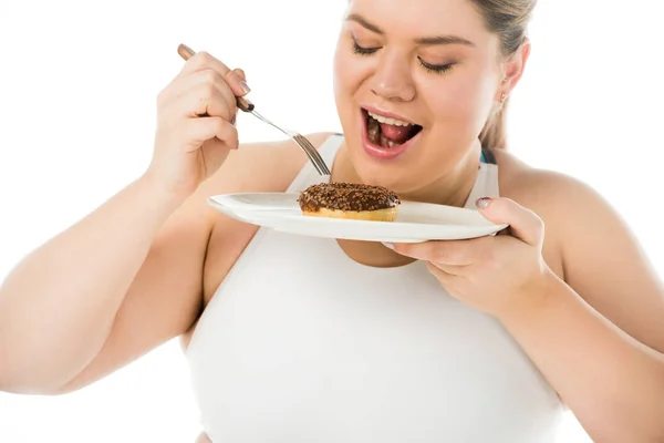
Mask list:
POLYGON ((359 14, 395 38, 455 34, 480 44, 490 40, 470 0, 350 0, 347 14, 359 14))

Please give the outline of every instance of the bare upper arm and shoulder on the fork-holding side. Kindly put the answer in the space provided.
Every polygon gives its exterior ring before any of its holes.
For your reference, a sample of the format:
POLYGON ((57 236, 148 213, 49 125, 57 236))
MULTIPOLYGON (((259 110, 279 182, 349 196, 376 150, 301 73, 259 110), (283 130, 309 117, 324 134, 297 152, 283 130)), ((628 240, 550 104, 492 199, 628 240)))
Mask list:
MULTIPOLYGON (((309 135, 319 146, 329 134, 309 135)), ((256 143, 231 151, 224 165, 162 226, 98 354, 62 392, 103 378, 190 330, 204 308, 205 264, 232 255, 248 227, 207 204, 211 195, 288 186, 304 154, 292 142, 256 143), (215 238, 212 238, 212 233, 215 238)), ((208 272, 209 274, 209 272, 208 272)), ((209 279, 208 279, 209 280, 209 279)))

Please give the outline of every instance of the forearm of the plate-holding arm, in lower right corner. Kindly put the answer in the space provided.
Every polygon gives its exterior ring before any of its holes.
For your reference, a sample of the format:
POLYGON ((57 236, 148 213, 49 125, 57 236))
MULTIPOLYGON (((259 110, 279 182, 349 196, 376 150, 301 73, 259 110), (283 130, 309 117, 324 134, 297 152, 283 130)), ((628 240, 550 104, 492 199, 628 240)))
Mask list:
POLYGON ((635 341, 554 275, 541 302, 504 326, 599 442, 664 441, 664 358, 635 341))

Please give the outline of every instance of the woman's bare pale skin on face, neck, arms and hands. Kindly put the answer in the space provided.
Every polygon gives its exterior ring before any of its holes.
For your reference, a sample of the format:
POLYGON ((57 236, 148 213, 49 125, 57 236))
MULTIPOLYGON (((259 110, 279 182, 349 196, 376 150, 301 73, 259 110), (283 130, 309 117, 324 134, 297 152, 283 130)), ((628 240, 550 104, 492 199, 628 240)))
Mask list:
MULTIPOLYGON (((332 181, 382 184, 404 199, 460 206, 477 171, 477 135, 502 93, 519 83, 530 44, 501 58, 496 35, 468 1, 417 4, 350 2, 335 53, 345 142, 332 181), (440 34, 471 44, 415 41, 440 34), (376 51, 354 53, 353 39, 376 51), (419 61, 454 64, 432 72, 419 61), (360 146, 360 106, 366 105, 422 125, 417 145, 394 161, 369 157, 360 146)), ((186 347, 257 229, 205 199, 283 192, 305 162, 288 141, 237 148, 229 122, 234 95, 246 94, 243 78, 207 53, 185 63, 159 95, 145 174, 8 276, 0 287, 2 390, 71 392, 172 338, 186 347), (211 117, 196 116, 204 112, 211 117), (69 260, 61 259, 64 251, 69 260)), ((328 136, 310 140, 320 146, 328 136)), ((497 163, 501 197, 480 210, 510 224, 508 231, 394 250, 340 247, 369 266, 428 261, 442 288, 502 322, 594 441, 663 440, 662 282, 629 228, 588 186, 508 152, 498 152, 497 163)))

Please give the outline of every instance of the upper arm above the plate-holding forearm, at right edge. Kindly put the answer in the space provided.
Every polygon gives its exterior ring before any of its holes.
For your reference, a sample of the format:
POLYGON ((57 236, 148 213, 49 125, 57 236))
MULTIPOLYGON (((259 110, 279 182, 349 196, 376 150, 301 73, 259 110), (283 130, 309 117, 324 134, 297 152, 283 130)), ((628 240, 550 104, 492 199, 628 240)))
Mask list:
POLYGON ((566 282, 623 331, 664 352, 664 288, 623 218, 579 181, 548 172, 530 178, 531 208, 553 236, 566 282))

